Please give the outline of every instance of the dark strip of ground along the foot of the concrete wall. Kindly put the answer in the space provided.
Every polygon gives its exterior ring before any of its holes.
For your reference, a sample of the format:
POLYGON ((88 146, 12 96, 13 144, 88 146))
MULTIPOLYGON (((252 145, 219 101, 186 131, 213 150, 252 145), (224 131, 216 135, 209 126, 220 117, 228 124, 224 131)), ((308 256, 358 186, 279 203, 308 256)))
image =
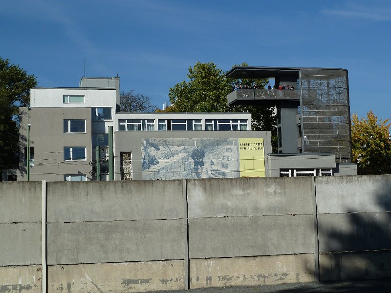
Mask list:
POLYGON ((345 281, 337 283, 294 283, 265 286, 236 286, 236 287, 213 287, 193 290, 162 291, 165 293, 373 293, 390 292, 391 278, 366 280, 366 281, 345 281))

